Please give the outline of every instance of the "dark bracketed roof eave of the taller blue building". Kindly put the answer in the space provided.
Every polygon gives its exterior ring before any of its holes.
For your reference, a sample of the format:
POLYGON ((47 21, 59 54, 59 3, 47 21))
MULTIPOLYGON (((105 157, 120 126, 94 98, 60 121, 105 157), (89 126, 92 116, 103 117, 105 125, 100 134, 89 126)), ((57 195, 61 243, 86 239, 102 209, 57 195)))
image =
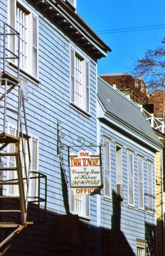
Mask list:
POLYGON ((33 0, 33 3, 93 58, 106 57, 107 52, 111 51, 88 24, 65 2, 61 0, 33 0))

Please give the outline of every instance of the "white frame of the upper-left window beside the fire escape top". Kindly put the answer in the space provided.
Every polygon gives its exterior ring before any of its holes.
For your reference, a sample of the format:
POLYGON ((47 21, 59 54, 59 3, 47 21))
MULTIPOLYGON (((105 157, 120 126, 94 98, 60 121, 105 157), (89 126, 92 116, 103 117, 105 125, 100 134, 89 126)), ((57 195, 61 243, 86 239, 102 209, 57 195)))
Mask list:
MULTIPOLYGON (((38 15, 35 12, 33 12, 33 10, 29 8, 29 6, 26 5, 23 1, 8 0, 8 22, 10 26, 12 26, 15 30, 17 30, 17 5, 19 5, 20 8, 22 8, 24 12, 27 13, 27 17, 26 17, 27 61, 26 61, 26 67, 20 67, 20 69, 28 73, 29 75, 35 78, 38 78, 38 15), (34 29, 34 26, 35 26, 35 29, 34 29), (33 33, 33 31, 35 30, 36 30, 36 33, 33 33)), ((8 41, 9 49, 11 49, 12 45, 14 45, 14 48, 12 49, 12 51, 14 51, 14 53, 17 54, 16 36, 13 36, 13 38, 11 36, 8 36, 8 40, 9 40, 8 41)), ((11 62, 17 65, 17 60, 15 61, 11 60, 11 62)), ((21 63, 21 58, 20 58, 20 63, 21 63)))

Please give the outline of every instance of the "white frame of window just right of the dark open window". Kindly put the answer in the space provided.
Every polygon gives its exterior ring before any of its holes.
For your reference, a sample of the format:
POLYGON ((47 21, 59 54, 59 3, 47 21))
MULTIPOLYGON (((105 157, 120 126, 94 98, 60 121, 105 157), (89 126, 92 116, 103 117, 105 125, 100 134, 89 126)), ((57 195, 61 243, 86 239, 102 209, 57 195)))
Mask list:
POLYGON ((134 206, 134 152, 127 150, 127 169, 128 169, 128 204, 134 206), (129 155, 132 156, 132 166, 129 164, 129 155), (132 168, 132 176, 129 175, 129 168, 132 168), (132 181, 132 202, 130 202, 130 182, 132 181))

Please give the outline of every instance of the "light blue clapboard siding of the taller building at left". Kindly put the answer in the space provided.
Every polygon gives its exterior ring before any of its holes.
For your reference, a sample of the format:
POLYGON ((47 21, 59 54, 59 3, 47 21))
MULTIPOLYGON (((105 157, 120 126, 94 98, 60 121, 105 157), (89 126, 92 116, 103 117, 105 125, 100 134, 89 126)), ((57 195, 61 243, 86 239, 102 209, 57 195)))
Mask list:
MULTIPOLYGON (((7 1, 1 1, 1 19, 7 19, 7 1), (4 3, 2 3, 4 2, 4 3)), ((30 5, 29 5, 30 6, 30 5)), ((2 26, 2 25, 1 25, 2 26)), ((74 42, 76 49, 76 42, 74 42)), ((82 51, 77 47, 79 51, 82 51)), ((83 51, 82 51, 83 52, 83 51)), ((86 55, 86 54, 85 54, 86 55)), ((70 105, 70 39, 61 33, 56 26, 52 25, 47 18, 38 13, 38 81, 28 80, 28 101, 26 102, 26 118, 28 131, 38 136, 39 159, 38 170, 47 175, 47 220, 45 225, 33 225, 25 236, 20 236, 10 250, 10 255, 45 255, 47 239, 51 230, 52 220, 56 214, 66 214, 63 198, 63 184, 61 182, 61 170, 59 155, 57 154, 57 125, 58 120, 65 132, 65 144, 70 145, 72 140, 70 131, 96 144, 96 87, 97 87, 97 63, 90 60, 90 116, 84 115, 70 105), (76 122, 75 122, 76 120, 76 122), (34 237, 35 234, 40 237, 34 237), (29 246, 29 244, 31 246, 29 246)), ((8 71, 15 74, 10 66, 8 71)), ((22 74, 20 74, 22 76, 22 74)), ((17 99, 12 93, 10 99, 17 99)), ((10 102, 12 106, 12 100, 10 102)), ((8 122, 13 122, 13 116, 8 115, 8 122)), ((64 142, 64 141, 63 141, 64 142)), ((74 152, 81 148, 74 148, 74 152)), ((97 148, 86 148, 95 152, 97 148)), ((69 180, 67 151, 63 152, 65 172, 69 180)), ((44 183, 41 184, 43 193, 44 183)), ((33 220, 32 212, 29 218, 33 220)), ((90 224, 96 226, 97 199, 91 196, 90 200, 90 224)), ((89 235, 89 241, 93 243, 93 237, 89 235)))

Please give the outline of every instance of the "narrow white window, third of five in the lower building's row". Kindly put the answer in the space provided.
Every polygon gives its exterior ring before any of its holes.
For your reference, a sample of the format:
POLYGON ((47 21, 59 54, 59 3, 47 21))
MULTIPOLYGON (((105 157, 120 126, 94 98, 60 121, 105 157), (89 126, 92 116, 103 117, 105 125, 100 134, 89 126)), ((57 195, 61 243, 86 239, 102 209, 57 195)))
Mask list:
POLYGON ((134 205, 134 168, 133 168, 133 152, 127 152, 127 164, 128 164, 128 196, 129 204, 134 205))

